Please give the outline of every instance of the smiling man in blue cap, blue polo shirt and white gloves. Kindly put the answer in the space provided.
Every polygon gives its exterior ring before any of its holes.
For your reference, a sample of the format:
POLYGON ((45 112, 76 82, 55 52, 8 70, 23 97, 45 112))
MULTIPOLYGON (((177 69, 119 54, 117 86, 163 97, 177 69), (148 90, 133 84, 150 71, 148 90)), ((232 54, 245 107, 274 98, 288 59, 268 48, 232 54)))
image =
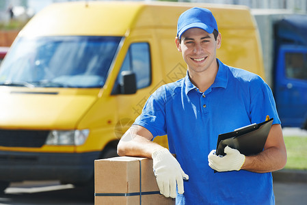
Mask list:
POLYGON ((209 10, 181 14, 175 42, 187 76, 148 98, 118 154, 152 158, 161 193, 176 204, 274 204, 271 172, 284 167, 286 148, 269 86, 216 58, 222 37, 209 10), (274 120, 263 152, 244 156, 226 147, 226 156, 215 155, 219 134, 267 115, 274 120), (152 142, 165 134, 170 151, 152 142))

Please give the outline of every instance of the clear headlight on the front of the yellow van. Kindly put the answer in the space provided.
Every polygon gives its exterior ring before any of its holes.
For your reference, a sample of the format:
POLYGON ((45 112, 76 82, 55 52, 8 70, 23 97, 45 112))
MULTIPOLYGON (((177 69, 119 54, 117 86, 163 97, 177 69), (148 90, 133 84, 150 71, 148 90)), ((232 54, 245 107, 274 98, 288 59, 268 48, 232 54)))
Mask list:
POLYGON ((75 130, 75 131, 50 131, 46 145, 72 145, 80 146, 88 138, 89 130, 75 130))

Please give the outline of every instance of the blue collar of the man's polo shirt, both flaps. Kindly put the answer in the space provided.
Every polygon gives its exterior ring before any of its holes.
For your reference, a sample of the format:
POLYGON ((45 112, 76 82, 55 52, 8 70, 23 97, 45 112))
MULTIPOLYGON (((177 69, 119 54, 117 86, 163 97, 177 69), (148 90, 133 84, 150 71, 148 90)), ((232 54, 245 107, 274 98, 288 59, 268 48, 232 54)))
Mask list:
MULTIPOLYGON (((211 85, 211 87, 227 87, 228 83, 228 69, 225 64, 222 63, 219 59, 217 59, 217 64, 219 65, 219 70, 217 71, 217 75, 215 77, 214 83, 211 85)), ((210 87, 210 88, 211 88, 210 87)), ((189 71, 187 70, 187 74, 185 76, 185 94, 187 94, 189 91, 198 88, 191 83, 191 80, 189 79, 189 71)))

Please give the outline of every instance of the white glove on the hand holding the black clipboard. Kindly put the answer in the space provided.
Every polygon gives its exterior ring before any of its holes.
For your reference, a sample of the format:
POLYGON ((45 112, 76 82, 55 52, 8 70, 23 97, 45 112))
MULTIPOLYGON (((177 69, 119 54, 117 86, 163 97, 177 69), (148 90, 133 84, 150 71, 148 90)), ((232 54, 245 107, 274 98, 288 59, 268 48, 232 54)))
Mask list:
POLYGON ((229 146, 226 146, 224 152, 225 156, 217 156, 215 150, 212 150, 208 155, 209 166, 217 172, 239 171, 245 162, 245 155, 229 146))

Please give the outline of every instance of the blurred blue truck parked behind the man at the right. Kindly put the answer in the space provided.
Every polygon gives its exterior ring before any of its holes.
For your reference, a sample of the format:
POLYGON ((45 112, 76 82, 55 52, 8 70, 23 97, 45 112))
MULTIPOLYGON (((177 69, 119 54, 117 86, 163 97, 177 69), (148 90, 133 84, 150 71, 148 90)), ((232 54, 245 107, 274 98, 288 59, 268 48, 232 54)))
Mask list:
POLYGON ((307 14, 252 10, 283 127, 307 129, 307 14))

